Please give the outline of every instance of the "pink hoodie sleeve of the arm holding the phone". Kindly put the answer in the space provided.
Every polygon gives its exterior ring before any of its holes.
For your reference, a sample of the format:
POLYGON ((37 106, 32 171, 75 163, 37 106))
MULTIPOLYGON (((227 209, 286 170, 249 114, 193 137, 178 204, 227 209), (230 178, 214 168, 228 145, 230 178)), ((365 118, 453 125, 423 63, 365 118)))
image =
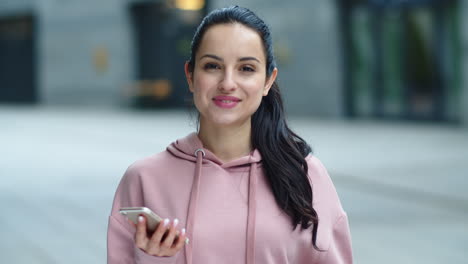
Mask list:
POLYGON ((119 213, 121 207, 144 206, 143 189, 138 170, 130 166, 117 188, 107 228, 107 264, 176 263, 173 257, 156 257, 136 247, 135 228, 119 213))

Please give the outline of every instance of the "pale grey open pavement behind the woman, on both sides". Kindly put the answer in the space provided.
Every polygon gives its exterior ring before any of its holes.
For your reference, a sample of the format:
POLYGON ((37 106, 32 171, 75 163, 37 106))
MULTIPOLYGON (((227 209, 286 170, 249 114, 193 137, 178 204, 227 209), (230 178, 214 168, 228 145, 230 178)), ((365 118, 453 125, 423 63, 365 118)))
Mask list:
MULTIPOLYGON (((195 130, 188 111, 0 106, 2 263, 105 263, 133 161, 195 130)), ((468 128, 291 117, 349 215, 355 263, 468 263, 468 128)))

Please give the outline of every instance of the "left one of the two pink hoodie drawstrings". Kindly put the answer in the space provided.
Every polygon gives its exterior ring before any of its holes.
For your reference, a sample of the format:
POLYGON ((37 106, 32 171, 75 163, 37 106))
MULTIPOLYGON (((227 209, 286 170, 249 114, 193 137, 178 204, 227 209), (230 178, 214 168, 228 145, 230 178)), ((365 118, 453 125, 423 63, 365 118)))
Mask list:
POLYGON ((197 212, 198 190, 200 189, 200 175, 205 152, 203 149, 195 150, 197 164, 195 166, 195 178, 193 179, 192 191, 190 193, 190 202, 187 213, 187 237, 192 241, 185 247, 185 260, 187 264, 192 264, 192 249, 193 249, 193 223, 197 212))

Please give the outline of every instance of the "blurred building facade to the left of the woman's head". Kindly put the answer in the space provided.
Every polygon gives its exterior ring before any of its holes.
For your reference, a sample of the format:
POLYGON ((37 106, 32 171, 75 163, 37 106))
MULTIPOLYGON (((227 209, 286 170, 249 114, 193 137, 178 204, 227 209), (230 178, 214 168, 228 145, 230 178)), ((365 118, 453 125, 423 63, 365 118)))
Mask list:
POLYGON ((202 16, 182 10, 198 8, 184 2, 2 0, 0 82, 8 88, 0 90, 0 100, 112 106, 135 98, 150 104, 145 98, 154 97, 179 103, 183 96, 175 87, 185 84, 187 47, 202 16))

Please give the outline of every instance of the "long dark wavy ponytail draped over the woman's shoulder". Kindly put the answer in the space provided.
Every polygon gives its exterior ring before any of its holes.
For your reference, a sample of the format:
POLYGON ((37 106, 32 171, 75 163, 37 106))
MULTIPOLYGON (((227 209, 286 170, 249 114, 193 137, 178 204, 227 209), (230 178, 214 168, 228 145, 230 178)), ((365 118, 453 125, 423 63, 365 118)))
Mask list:
POLYGON ((262 154, 265 176, 276 203, 292 220, 293 230, 312 227, 317 247, 318 215, 312 207, 312 186, 305 157, 310 146, 286 124, 283 100, 276 82, 252 116, 252 146, 262 154))

